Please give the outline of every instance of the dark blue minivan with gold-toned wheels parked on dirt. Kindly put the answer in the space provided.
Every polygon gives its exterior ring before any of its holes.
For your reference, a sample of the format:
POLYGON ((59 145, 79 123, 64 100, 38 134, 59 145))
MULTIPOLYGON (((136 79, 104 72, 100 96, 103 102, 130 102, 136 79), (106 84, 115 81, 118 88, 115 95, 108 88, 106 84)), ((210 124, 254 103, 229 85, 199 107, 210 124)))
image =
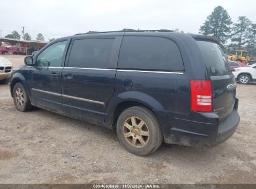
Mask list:
POLYGON ((212 37, 90 32, 54 40, 25 63, 11 76, 19 111, 37 106, 116 129, 136 155, 163 140, 217 144, 239 124, 235 77, 212 37))

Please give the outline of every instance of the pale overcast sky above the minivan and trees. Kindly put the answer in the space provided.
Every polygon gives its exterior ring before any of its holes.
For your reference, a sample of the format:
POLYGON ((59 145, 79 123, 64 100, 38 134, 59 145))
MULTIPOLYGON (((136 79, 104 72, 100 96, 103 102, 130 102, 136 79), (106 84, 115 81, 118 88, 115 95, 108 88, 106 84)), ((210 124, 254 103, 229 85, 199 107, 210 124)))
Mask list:
POLYGON ((180 29, 198 33, 214 7, 222 6, 233 22, 247 16, 256 23, 254 0, 0 0, 2 37, 26 26, 32 40, 77 33, 128 29, 180 29))

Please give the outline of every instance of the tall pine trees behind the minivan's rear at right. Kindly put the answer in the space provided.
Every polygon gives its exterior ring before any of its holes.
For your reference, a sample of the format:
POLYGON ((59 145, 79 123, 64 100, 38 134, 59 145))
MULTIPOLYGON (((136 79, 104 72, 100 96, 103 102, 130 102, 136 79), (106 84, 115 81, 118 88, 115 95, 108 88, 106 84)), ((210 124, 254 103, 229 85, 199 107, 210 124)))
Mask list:
POLYGON ((256 55, 256 24, 246 16, 239 16, 236 22, 232 22, 227 10, 222 6, 215 7, 214 11, 207 16, 199 33, 219 39, 226 53, 234 53, 235 50, 249 50, 251 55, 256 55))

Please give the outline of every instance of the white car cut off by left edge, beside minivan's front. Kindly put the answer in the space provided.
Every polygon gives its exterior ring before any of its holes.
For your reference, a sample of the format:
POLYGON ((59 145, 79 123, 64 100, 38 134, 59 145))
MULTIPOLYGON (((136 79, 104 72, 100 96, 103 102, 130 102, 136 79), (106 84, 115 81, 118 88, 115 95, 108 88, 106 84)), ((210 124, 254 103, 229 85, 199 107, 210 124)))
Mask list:
POLYGON ((0 83, 9 83, 11 71, 12 63, 8 59, 0 57, 0 83))

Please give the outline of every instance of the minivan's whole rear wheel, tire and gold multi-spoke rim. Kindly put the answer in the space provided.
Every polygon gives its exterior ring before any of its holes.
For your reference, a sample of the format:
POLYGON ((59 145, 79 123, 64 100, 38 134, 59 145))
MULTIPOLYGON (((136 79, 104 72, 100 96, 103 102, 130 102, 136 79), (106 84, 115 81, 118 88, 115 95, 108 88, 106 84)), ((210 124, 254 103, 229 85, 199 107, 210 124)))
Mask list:
POLYGON ((141 106, 125 109, 118 118, 116 131, 121 144, 135 155, 149 155, 163 142, 158 119, 141 106))

